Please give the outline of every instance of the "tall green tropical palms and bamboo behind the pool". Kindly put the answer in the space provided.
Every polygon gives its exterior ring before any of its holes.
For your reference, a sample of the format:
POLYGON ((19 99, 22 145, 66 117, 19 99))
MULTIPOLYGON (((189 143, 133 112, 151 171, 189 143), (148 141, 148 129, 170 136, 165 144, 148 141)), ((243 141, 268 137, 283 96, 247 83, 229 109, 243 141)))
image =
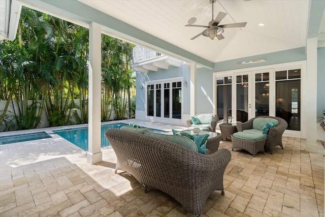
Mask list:
MULTIPOLYGON (((51 127, 88 122, 88 33, 22 8, 16 39, 0 41, 1 131, 37 128, 44 112, 51 127)), ((133 46, 102 35, 102 121, 134 113, 133 46)))

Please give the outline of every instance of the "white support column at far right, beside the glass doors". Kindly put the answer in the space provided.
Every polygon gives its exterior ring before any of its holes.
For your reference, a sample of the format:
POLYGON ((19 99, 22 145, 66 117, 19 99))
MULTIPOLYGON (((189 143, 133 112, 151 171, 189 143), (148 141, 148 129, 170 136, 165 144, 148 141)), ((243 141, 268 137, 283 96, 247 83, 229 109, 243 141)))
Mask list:
POLYGON ((307 82, 306 105, 307 109, 307 141, 306 151, 317 153, 317 37, 307 39, 307 82))

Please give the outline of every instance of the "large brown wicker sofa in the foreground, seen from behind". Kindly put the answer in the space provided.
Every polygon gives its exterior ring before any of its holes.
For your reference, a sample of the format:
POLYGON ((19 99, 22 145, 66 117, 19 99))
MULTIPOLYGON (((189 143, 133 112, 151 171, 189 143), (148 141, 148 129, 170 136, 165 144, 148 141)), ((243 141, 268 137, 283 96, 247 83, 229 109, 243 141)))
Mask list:
POLYGON ((223 174, 231 160, 228 149, 201 154, 164 139, 115 129, 105 136, 117 157, 116 170, 133 175, 145 192, 163 191, 196 216, 212 192, 224 195, 223 174))

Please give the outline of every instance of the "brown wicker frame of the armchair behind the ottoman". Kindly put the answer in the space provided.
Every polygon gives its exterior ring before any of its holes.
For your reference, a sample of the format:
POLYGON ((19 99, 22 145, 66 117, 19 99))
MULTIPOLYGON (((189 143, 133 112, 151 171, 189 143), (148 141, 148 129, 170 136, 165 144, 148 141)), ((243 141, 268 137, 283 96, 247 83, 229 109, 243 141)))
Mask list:
POLYGON ((274 128, 271 128, 269 130, 268 138, 267 138, 267 140, 265 142, 264 148, 266 150, 269 150, 271 152, 271 154, 273 153, 274 148, 277 145, 280 145, 281 148, 283 149, 282 134, 285 131, 285 129, 287 128, 288 124, 284 119, 282 119, 280 117, 273 117, 273 116, 257 116, 257 117, 253 117, 253 118, 249 119, 248 121, 246 121, 244 123, 238 123, 237 124, 238 132, 242 132, 243 130, 252 129, 253 120, 255 118, 259 118, 259 117, 269 117, 269 118, 273 118, 273 119, 276 119, 277 121, 279 121, 278 126, 276 126, 274 128))

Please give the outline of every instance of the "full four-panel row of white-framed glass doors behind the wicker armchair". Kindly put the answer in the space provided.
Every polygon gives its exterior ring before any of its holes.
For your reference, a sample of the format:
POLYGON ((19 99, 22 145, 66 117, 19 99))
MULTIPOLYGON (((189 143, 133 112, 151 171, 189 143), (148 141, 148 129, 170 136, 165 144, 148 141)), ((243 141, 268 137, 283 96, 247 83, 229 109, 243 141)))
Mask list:
POLYGON ((286 120, 287 130, 300 131, 301 69, 291 66, 216 75, 216 110, 223 122, 277 116, 286 120))

